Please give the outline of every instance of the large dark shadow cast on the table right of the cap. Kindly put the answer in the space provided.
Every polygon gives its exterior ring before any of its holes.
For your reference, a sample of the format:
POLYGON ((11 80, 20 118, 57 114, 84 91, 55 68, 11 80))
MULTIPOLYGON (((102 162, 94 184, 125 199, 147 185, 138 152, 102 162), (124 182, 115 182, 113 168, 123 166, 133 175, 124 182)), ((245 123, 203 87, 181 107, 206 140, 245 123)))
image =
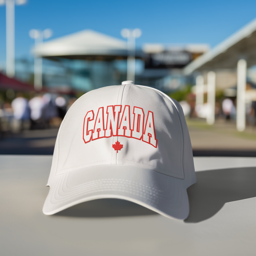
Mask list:
POLYGON ((187 189, 190 212, 185 222, 215 215, 227 202, 256 197, 256 167, 196 172, 197 183, 187 189))

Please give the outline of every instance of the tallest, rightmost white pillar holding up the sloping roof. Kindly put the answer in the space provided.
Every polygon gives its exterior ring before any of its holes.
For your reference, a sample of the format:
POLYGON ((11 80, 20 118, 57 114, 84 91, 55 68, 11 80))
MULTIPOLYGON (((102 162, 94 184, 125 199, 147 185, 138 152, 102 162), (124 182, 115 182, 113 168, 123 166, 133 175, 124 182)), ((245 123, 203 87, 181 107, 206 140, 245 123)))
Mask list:
POLYGON ((247 63, 240 59, 237 63, 237 92, 236 92, 236 128, 245 129, 245 89, 246 89, 247 63))

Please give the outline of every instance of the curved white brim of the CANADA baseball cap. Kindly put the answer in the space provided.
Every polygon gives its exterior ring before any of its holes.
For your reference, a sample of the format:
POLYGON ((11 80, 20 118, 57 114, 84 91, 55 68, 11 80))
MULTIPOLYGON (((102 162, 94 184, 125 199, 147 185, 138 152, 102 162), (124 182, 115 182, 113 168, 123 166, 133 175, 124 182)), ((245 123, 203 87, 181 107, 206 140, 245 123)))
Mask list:
POLYGON ((98 165, 56 175, 43 212, 52 215, 73 205, 101 198, 140 204, 168 218, 186 219, 189 200, 185 180, 150 169, 98 165))

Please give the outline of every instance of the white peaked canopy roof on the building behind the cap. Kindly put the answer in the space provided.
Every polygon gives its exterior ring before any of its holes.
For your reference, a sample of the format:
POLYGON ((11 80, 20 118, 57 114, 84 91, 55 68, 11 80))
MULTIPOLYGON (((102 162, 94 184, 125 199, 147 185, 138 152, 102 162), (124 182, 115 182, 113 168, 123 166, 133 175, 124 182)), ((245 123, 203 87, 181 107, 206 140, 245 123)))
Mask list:
POLYGON ((109 35, 87 29, 39 44, 33 49, 37 56, 74 59, 113 59, 127 56, 127 44, 109 35))

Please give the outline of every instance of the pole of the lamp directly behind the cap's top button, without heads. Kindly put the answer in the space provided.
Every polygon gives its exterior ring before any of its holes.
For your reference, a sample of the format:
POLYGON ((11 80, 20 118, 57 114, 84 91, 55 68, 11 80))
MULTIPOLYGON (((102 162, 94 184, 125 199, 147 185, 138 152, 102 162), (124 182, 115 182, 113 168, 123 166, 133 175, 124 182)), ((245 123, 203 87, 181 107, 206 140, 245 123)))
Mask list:
POLYGON ((129 56, 127 58, 127 80, 135 80, 135 37, 130 32, 128 36, 128 52, 129 56))

